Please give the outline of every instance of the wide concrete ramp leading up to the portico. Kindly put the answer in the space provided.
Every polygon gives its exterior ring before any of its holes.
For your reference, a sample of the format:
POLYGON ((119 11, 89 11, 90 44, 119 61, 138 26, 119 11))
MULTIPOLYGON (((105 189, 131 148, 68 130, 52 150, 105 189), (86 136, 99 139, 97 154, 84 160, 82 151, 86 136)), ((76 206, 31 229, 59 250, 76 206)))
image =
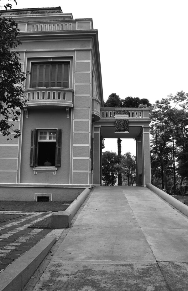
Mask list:
POLYGON ((187 291, 188 218, 144 187, 96 187, 34 291, 187 291))

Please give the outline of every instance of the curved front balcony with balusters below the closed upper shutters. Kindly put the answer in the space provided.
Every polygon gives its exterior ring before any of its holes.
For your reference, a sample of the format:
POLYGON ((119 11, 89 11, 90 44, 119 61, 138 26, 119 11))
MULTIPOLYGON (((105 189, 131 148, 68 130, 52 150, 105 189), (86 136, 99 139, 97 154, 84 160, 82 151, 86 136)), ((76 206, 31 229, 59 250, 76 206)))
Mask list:
POLYGON ((24 90, 27 99, 27 107, 31 106, 64 106, 73 107, 73 89, 39 87, 24 90))

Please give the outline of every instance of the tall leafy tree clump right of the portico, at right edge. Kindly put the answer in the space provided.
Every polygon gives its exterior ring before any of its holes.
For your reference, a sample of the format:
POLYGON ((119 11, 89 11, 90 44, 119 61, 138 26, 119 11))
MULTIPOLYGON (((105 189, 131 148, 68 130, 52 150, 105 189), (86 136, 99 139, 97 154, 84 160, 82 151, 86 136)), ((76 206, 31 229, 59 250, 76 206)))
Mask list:
POLYGON ((188 179, 188 94, 157 100, 150 117, 152 178, 175 192, 188 179))

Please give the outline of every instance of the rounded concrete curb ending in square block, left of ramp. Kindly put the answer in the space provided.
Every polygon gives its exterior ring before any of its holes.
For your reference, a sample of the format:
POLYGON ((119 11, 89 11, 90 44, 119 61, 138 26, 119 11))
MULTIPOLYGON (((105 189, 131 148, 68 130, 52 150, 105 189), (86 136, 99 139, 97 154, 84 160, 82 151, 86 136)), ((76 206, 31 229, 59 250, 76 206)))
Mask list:
POLYGON ((75 216, 82 203, 86 200, 91 189, 84 189, 81 194, 70 204, 65 211, 58 211, 52 215, 52 228, 66 228, 71 226, 71 220, 75 216))

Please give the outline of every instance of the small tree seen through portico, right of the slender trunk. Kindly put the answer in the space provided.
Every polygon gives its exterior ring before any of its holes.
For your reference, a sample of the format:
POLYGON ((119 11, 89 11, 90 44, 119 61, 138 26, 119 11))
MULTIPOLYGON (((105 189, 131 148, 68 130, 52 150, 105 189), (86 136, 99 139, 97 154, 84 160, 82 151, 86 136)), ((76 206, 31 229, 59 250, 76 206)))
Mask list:
POLYGON ((128 186, 133 186, 136 182, 136 157, 130 152, 124 154, 121 158, 121 168, 123 182, 128 186))

